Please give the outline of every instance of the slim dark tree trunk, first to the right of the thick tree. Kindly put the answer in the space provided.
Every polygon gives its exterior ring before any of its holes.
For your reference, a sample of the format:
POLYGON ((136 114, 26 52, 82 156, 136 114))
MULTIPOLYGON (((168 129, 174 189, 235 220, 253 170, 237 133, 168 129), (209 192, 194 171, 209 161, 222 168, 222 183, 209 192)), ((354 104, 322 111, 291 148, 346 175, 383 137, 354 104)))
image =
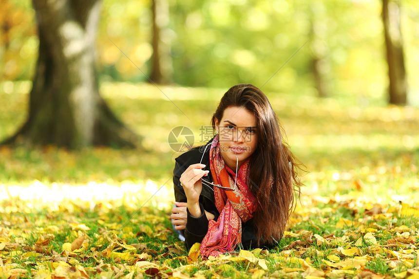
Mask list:
MULTIPOLYGON (((167 0, 152 0, 152 71, 150 79, 153 82, 170 83, 172 64, 169 54, 169 46, 162 41, 162 31, 169 23, 169 3, 167 0)), ((169 38, 166 38, 169 40, 169 38)))

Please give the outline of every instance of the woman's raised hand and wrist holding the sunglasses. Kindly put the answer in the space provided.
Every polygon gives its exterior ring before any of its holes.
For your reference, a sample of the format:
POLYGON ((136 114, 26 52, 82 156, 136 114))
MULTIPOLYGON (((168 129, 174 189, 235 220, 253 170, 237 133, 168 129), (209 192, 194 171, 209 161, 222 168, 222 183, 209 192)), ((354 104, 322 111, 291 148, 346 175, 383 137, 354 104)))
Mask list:
POLYGON ((199 195, 202 191, 201 178, 210 172, 209 170, 202 170, 203 167, 205 167, 203 164, 190 165, 179 179, 185 191, 189 213, 195 218, 202 214, 199 207, 199 195))

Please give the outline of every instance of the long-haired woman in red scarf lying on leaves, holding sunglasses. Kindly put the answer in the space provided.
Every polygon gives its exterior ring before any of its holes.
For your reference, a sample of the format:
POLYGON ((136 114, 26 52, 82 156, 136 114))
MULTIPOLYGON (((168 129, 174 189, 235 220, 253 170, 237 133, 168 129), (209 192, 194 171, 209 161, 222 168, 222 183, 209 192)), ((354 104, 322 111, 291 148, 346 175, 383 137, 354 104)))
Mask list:
POLYGON ((175 229, 187 248, 201 242, 205 257, 238 244, 273 247, 301 186, 275 112, 257 87, 239 84, 224 94, 211 124, 216 136, 209 143, 176 158, 175 229))

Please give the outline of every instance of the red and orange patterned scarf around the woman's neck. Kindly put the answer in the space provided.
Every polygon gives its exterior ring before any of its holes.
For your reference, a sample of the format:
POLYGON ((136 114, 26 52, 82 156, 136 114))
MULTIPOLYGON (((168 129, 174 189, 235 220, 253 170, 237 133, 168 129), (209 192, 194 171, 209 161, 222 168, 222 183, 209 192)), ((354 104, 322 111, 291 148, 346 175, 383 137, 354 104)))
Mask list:
MULTIPOLYGON (((234 187, 236 174, 224 164, 220 153, 218 135, 210 148, 210 169, 214 184, 234 187)), ((225 191, 214 186, 215 205, 220 212, 218 221, 210 220, 208 232, 201 243, 200 252, 204 257, 218 257, 231 252, 242 242, 242 222, 253 217, 255 197, 246 185, 249 173, 249 159, 237 170, 236 189, 225 191)))

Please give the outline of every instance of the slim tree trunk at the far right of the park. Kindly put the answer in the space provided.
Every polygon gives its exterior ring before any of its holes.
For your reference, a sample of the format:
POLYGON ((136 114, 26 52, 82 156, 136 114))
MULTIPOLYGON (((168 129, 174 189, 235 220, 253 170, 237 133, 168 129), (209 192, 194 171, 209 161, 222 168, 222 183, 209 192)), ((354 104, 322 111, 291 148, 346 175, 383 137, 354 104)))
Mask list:
POLYGON ((390 104, 406 105, 407 80, 404 68, 403 41, 400 29, 400 6, 398 0, 382 0, 382 22, 384 24, 387 52, 390 104))

